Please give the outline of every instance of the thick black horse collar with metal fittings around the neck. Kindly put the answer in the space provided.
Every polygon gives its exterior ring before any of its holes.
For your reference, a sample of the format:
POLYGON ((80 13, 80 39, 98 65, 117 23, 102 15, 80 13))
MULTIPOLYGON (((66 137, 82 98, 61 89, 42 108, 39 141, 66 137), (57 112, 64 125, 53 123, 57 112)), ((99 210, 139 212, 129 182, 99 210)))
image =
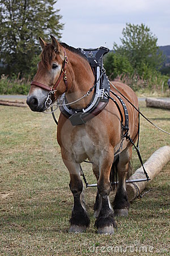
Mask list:
POLYGON ((89 119, 99 114, 105 106, 107 106, 109 102, 108 96, 110 94, 110 82, 105 74, 105 69, 103 68, 103 56, 108 53, 109 49, 105 47, 97 49, 78 49, 87 57, 92 71, 94 72, 95 83, 89 90, 89 92, 92 92, 94 89, 92 100, 84 109, 73 109, 70 106, 65 105, 68 102, 65 94, 63 94, 63 106, 60 106, 59 109, 65 117, 70 119, 73 126, 83 125, 89 119))

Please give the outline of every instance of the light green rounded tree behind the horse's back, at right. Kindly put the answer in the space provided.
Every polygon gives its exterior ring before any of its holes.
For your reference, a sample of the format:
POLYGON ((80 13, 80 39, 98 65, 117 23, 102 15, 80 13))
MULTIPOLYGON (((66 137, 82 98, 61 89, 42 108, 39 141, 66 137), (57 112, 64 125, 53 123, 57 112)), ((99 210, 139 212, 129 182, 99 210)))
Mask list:
POLYGON ((120 38, 122 46, 114 43, 114 51, 128 57, 134 71, 139 76, 148 76, 150 72, 159 69, 164 57, 157 46, 158 39, 145 24, 134 25, 126 23, 120 38))

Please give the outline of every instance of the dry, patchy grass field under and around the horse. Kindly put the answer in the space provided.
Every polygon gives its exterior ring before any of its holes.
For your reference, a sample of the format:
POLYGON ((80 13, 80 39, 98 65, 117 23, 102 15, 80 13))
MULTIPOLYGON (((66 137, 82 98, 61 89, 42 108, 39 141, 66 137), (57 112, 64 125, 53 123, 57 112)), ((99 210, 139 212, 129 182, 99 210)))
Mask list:
MULTIPOLYGON (((169 130, 168 110, 141 111, 162 129, 169 130)), ((50 115, 28 108, 0 106, 0 255, 168 255, 169 170, 146 188, 142 199, 131 203, 127 218, 116 217, 114 236, 97 235, 93 205, 96 188, 86 189, 91 224, 86 233, 70 234, 73 196, 69 173, 56 143, 56 125, 50 115), (119 252, 118 252, 119 251, 119 252)), ((141 118, 140 149, 143 161, 170 139, 141 118)), ((91 166, 83 164, 89 183, 91 166)), ((140 166, 133 154, 133 169, 140 166)), ((113 193, 111 193, 113 201, 113 193)))

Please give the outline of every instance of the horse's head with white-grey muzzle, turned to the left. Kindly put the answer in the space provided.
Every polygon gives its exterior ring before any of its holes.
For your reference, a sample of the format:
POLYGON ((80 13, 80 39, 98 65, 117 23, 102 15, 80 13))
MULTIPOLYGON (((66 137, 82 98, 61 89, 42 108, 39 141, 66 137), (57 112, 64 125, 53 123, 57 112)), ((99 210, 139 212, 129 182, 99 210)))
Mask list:
POLYGON ((27 96, 27 104, 32 111, 43 112, 45 101, 50 91, 56 90, 55 97, 66 91, 67 56, 54 36, 50 36, 52 43, 46 43, 39 38, 42 52, 41 61, 37 64, 37 73, 31 82, 27 96))

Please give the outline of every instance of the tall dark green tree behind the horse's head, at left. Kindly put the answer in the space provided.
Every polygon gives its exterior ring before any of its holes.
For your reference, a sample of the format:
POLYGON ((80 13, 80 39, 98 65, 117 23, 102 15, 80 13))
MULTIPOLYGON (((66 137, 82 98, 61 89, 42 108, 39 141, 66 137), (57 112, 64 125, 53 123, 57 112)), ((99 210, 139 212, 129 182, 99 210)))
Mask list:
POLYGON ((29 74, 40 54, 38 37, 61 38, 63 24, 54 0, 0 0, 0 57, 6 74, 29 74))

